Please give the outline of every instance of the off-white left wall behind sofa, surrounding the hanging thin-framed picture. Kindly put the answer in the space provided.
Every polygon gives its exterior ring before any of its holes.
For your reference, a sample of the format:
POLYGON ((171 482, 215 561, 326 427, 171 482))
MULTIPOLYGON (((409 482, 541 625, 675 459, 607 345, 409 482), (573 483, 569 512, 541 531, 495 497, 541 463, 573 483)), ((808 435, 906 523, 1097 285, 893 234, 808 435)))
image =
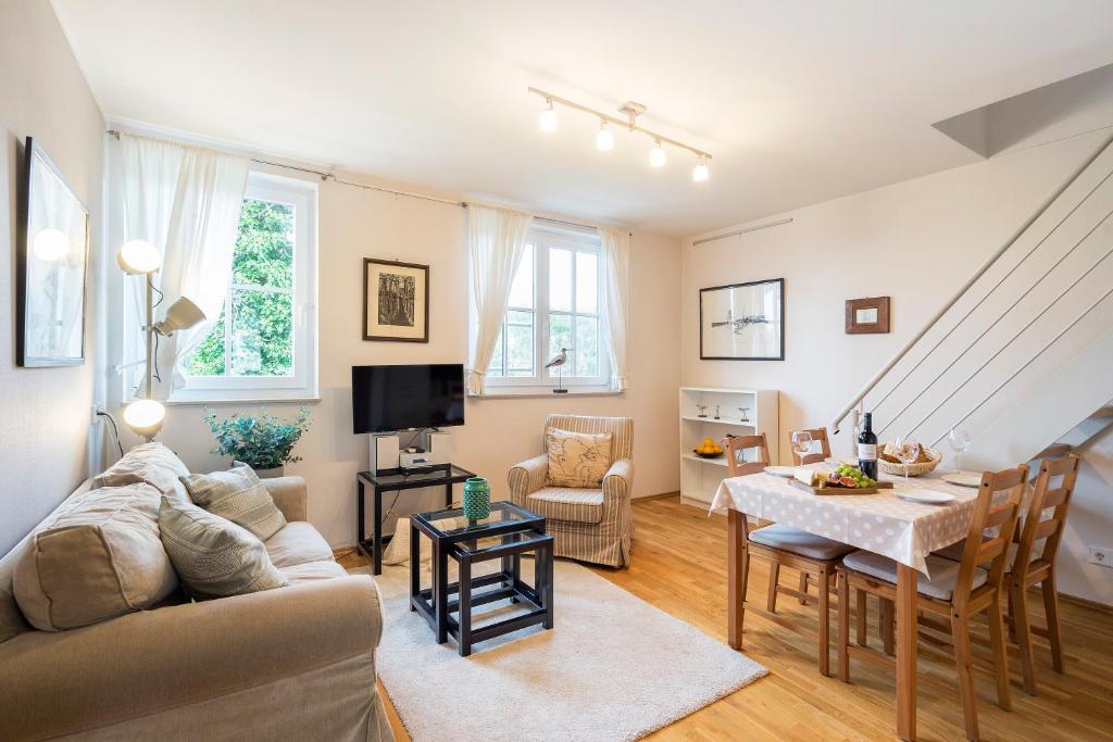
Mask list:
POLYGON ((93 399, 104 119, 48 2, 0 3, 0 554, 86 476, 93 399), (86 363, 16 365, 16 221, 23 141, 42 145, 89 207, 86 363))

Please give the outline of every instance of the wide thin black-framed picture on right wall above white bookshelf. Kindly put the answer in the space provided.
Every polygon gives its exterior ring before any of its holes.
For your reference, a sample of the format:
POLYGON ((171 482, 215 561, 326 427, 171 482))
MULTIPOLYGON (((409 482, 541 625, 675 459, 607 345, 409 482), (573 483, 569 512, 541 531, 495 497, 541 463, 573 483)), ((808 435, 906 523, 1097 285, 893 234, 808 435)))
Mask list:
POLYGON ((785 359, 785 279, 699 290, 699 357, 785 359))

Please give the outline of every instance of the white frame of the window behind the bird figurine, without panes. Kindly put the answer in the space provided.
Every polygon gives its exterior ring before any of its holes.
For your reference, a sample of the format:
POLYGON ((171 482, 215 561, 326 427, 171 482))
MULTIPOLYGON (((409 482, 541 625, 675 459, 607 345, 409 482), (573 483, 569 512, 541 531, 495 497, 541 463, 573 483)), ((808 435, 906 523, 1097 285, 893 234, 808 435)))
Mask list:
MULTIPOLYGON (((563 229, 550 227, 534 222, 525 239, 526 244, 533 245, 533 309, 528 310, 521 307, 506 307, 506 311, 532 311, 533 313, 533 375, 532 376, 486 376, 489 394, 513 395, 513 394, 535 394, 540 389, 551 389, 556 385, 558 375, 545 373, 544 364, 550 358, 549 353, 549 325, 552 315, 564 315, 572 317, 572 338, 575 342, 575 318, 593 317, 599 323, 599 374, 597 376, 575 376, 574 374, 563 374, 562 384, 570 388, 570 394, 577 392, 605 392, 610 389, 610 350, 607 348, 604 339, 604 281, 602 264, 602 244, 595 233, 583 230, 563 229), (551 249, 563 249, 572 253, 572 294, 571 309, 554 310, 549 301, 549 253, 551 249), (575 306, 577 275, 575 254, 587 253, 595 256, 595 311, 578 311, 575 306)), ((503 343, 503 363, 505 363, 505 327, 506 316, 503 315, 503 330, 501 338, 503 343)), ((570 358, 570 365, 574 364, 574 357, 570 358)))

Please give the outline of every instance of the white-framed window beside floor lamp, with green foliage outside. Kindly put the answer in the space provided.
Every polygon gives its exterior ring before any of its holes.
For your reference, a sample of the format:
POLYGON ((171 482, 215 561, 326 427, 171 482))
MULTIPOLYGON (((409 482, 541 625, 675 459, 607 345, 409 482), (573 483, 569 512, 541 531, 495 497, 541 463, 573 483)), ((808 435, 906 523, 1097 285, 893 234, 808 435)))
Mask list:
POLYGON ((224 310, 174 400, 316 396, 316 189, 252 172, 224 310))

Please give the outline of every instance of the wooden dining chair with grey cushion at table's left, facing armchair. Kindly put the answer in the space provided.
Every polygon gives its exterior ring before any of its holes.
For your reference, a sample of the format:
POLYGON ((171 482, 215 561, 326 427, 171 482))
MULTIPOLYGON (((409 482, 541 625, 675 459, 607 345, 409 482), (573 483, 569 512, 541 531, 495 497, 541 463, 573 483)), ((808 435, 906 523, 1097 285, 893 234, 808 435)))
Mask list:
MULTIPOLYGON (((727 449, 727 466, 730 476, 745 476, 747 474, 759 474, 769 464, 769 445, 762 435, 745 435, 725 441, 727 449), (747 461, 746 451, 756 451, 755 461, 747 461)), ((740 560, 739 572, 741 584, 737 595, 731 595, 739 610, 737 612, 737 624, 730 626, 730 645, 741 649, 742 623, 746 611, 754 611, 758 615, 768 619, 777 625, 794 631, 799 634, 807 634, 801 626, 777 613, 777 593, 786 593, 807 602, 808 596, 804 593, 791 590, 779 584, 780 567, 788 566, 800 571, 801 580, 805 575, 810 575, 817 585, 824 585, 819 590, 817 602, 819 605, 819 672, 824 675, 830 674, 830 592, 834 587, 834 580, 838 561, 845 554, 853 551, 853 547, 840 544, 830 538, 824 538, 807 531, 791 528, 789 526, 772 524, 751 530, 746 515, 736 509, 730 511, 731 518, 740 518, 740 524, 736 521, 731 523, 731 535, 737 534, 737 543, 733 537, 730 543, 731 558, 740 560), (740 527, 739 527, 740 526, 740 527), (749 582, 750 557, 758 556, 769 562, 769 591, 766 595, 765 606, 746 600, 746 587, 749 582)))

